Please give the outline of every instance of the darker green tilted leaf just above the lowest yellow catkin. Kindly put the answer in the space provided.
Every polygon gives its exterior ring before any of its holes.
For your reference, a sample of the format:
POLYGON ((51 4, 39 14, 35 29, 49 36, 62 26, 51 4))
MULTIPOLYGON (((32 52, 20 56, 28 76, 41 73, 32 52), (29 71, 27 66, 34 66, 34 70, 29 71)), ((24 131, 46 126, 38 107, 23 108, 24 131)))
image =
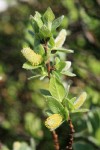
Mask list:
POLYGON ((64 111, 63 105, 60 102, 58 102, 55 98, 51 96, 47 97, 47 104, 48 104, 49 109, 53 113, 64 115, 65 111, 64 111))

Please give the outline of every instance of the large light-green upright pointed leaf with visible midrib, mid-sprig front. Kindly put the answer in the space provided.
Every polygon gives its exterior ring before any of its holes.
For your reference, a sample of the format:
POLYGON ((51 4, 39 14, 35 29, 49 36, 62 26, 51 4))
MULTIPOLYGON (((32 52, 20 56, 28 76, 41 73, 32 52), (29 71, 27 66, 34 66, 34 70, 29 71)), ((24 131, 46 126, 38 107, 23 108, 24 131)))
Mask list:
POLYGON ((62 102, 66 91, 63 86, 63 84, 60 82, 60 80, 56 77, 51 77, 50 84, 49 84, 49 90, 51 95, 56 98, 58 101, 62 102))

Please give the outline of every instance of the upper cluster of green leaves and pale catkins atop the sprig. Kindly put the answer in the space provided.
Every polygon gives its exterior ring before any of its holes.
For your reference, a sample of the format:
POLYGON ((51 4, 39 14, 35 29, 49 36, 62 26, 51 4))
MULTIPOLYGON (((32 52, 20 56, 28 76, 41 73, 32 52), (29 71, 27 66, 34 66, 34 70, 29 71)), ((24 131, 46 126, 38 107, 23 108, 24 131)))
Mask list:
POLYGON ((62 15, 61 17, 55 19, 55 15, 51 8, 48 8, 43 15, 36 11, 34 16, 30 16, 30 23, 33 30, 29 31, 29 33, 32 35, 34 41, 33 50, 30 50, 29 47, 24 47, 22 54, 27 60, 27 62, 23 64, 23 68, 37 72, 37 74, 33 75, 32 78, 40 77, 40 79, 44 79, 44 77, 48 76, 46 66, 48 61, 50 61, 51 65, 50 73, 57 74, 57 76, 60 76, 61 74, 74 76, 74 74, 69 71, 71 63, 69 64, 69 62, 60 60, 58 56, 58 52, 73 52, 73 50, 68 50, 63 47, 67 36, 67 31, 62 29, 57 37, 54 38, 54 33, 61 25, 63 18, 64 16, 62 15), (27 52, 25 51, 26 49, 27 52), (32 51, 34 51, 34 55, 32 54, 32 51), (37 62, 34 61, 34 59, 37 59, 36 54, 42 57, 42 61, 39 59, 37 62))

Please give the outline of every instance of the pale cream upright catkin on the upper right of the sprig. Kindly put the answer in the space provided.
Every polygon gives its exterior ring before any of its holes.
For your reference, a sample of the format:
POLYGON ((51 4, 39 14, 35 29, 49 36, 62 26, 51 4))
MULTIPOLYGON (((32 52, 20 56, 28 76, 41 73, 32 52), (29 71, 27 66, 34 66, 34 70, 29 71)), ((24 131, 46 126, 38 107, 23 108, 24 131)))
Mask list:
POLYGON ((65 29, 62 29, 55 39, 55 45, 56 45, 55 47, 61 48, 65 42, 66 36, 67 36, 67 31, 65 29))

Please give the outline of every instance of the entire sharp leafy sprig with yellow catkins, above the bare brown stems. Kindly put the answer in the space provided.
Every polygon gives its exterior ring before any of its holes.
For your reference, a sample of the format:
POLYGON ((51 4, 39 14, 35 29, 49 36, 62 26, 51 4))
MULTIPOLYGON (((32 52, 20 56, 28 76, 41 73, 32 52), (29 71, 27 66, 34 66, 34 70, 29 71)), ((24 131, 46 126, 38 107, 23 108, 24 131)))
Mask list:
MULTIPOLYGON (((71 62, 62 60, 59 53, 73 53, 63 47, 66 40, 67 31, 62 29, 55 38, 56 29, 61 25, 64 16, 55 19, 51 8, 41 15, 35 12, 30 16, 33 30, 30 31, 34 45, 33 49, 24 47, 22 54, 26 58, 23 64, 24 69, 33 70, 35 76, 40 79, 49 77, 49 90, 41 89, 41 93, 46 99, 48 118, 45 125, 50 131, 57 129, 64 121, 68 121, 71 113, 87 112, 87 109, 80 109, 86 100, 86 92, 80 94, 78 98, 68 97, 69 86, 66 89, 62 83, 62 75, 75 76, 70 70, 71 62), (36 74, 37 73, 37 74, 36 74)), ((71 125, 71 120, 69 121, 71 125)))

